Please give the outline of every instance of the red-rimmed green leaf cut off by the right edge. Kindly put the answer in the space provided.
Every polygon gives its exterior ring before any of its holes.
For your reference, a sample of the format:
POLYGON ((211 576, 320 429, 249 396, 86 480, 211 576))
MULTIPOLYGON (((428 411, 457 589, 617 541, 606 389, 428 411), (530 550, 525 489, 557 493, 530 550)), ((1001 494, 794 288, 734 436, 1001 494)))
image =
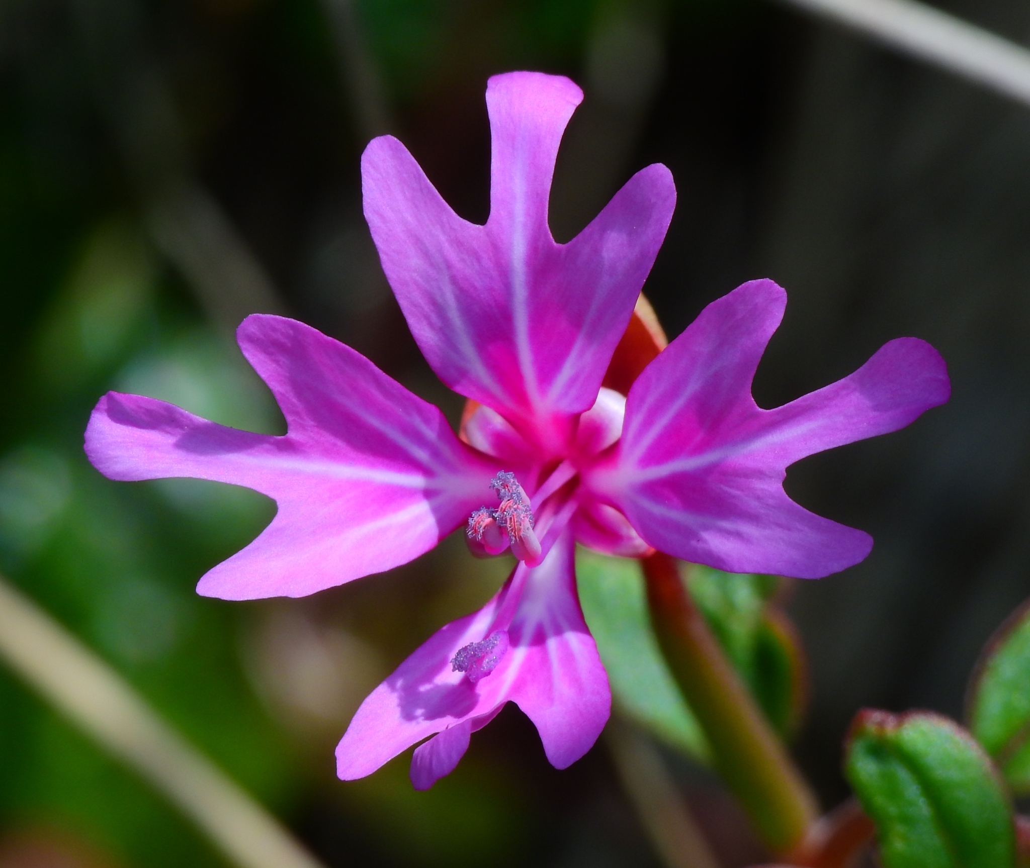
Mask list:
POLYGON ((1018 795, 1030 793, 1030 604, 988 643, 969 691, 969 729, 1018 795))

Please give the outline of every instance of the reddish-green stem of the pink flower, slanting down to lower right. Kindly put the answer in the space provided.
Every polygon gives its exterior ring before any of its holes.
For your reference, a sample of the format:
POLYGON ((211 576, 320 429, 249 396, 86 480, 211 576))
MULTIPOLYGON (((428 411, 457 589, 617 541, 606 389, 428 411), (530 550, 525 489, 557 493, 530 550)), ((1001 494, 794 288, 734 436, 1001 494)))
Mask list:
POLYGON ((691 601, 676 561, 659 552, 643 566, 658 643, 716 769, 765 845, 790 854, 816 819, 812 792, 691 601))

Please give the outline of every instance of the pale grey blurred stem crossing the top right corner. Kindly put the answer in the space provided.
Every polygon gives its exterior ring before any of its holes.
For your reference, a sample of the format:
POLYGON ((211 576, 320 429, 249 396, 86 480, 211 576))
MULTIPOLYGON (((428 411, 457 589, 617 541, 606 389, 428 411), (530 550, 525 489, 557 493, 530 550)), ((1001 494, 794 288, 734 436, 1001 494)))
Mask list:
POLYGON ((1030 50, 917 0, 781 0, 1030 105, 1030 50))

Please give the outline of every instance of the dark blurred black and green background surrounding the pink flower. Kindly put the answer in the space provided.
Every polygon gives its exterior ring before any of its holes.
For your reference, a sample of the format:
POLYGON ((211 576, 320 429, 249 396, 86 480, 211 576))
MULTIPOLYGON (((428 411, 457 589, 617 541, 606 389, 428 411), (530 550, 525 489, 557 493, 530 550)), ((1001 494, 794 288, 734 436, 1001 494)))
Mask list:
MULTIPOLYGON (((1018 0, 948 8, 1030 37, 1018 0)), ((981 647, 1030 594, 1027 108, 758 0, 0 0, 0 567, 331 866, 657 862, 603 747, 554 771, 513 706, 430 793, 407 757, 336 780, 360 699, 504 563, 452 539, 305 600, 200 598, 272 506, 109 483, 81 433, 108 388, 281 430, 231 342, 255 310, 350 343, 455 418, 380 272, 358 161, 393 132, 483 220, 485 81, 519 68, 586 92, 558 161, 559 241, 637 169, 672 169, 646 286, 671 336, 744 280, 786 286, 760 405, 902 335, 949 362, 950 405, 788 478, 877 541, 791 602, 813 687, 796 754, 824 806, 847 795, 857 708, 960 717, 981 647)), ((726 796, 668 759, 726 864, 755 858, 726 796)), ((221 864, 0 668, 2 868, 221 864)))

